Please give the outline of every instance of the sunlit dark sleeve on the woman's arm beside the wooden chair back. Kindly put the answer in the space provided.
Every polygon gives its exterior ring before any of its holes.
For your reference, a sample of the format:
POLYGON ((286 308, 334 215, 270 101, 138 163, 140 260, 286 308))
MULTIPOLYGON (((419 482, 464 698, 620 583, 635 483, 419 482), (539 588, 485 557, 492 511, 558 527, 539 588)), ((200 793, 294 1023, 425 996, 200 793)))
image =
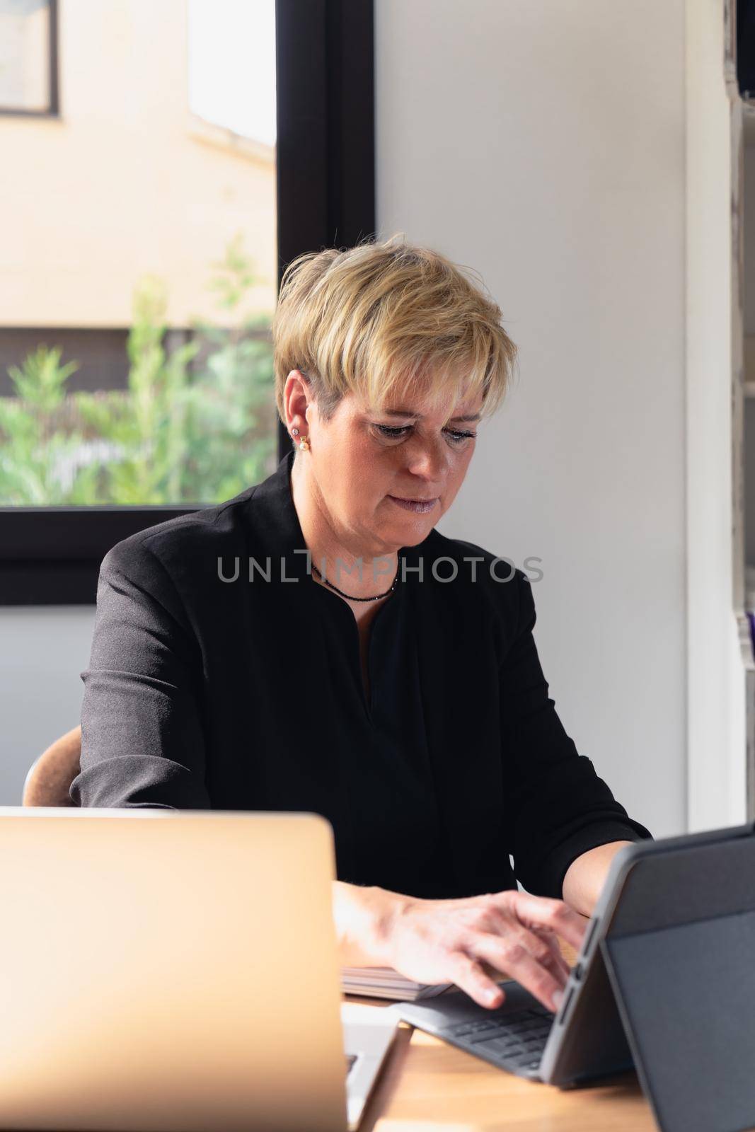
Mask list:
POLYGON ((104 557, 81 704, 79 806, 207 809, 196 637, 144 540, 104 557))

